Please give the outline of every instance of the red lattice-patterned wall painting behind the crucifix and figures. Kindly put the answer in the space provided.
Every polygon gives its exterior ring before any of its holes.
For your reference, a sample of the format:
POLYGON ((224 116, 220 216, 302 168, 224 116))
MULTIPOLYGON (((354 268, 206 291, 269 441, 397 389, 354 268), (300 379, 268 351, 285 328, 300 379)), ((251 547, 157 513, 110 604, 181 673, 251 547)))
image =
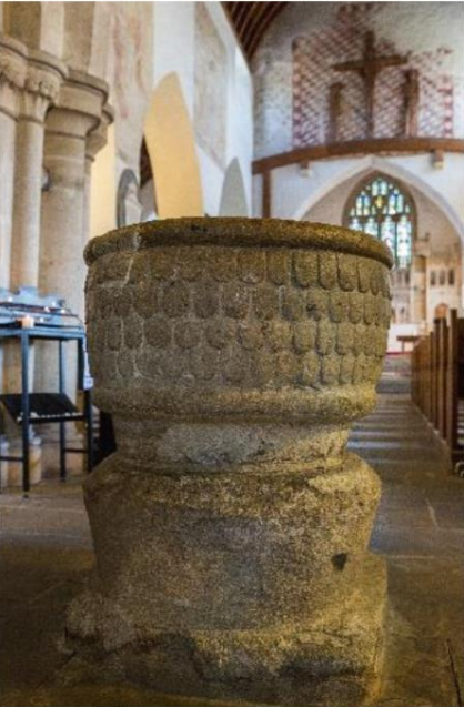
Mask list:
POLYGON ((451 50, 399 54, 393 42, 370 30, 375 10, 342 6, 325 32, 294 39, 294 147, 453 137, 453 84, 440 71, 451 50))

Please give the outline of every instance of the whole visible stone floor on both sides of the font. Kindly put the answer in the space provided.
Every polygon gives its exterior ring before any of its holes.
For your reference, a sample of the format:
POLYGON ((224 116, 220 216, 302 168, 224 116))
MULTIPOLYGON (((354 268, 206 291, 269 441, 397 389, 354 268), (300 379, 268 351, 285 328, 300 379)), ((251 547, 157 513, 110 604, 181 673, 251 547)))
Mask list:
MULTIPOLYGON (((411 403, 404 357, 387 362, 380 392, 350 443, 383 482, 372 549, 387 560, 390 615, 375 707, 463 707, 464 479, 451 475, 411 403)), ((92 564, 79 481, 47 482, 29 501, 6 493, 0 508, 1 707, 219 705, 100 685, 98 677, 73 683, 63 613, 92 564)))

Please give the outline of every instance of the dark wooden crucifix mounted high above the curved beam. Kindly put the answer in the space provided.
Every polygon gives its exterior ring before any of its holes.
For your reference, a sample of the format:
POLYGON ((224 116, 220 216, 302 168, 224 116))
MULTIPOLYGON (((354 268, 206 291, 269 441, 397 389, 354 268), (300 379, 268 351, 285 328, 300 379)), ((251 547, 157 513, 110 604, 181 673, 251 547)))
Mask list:
POLYGON ((335 71, 355 71, 364 82, 369 138, 374 134, 374 98, 377 75, 383 69, 399 67, 406 62, 407 57, 400 57, 400 54, 380 57, 375 49, 375 33, 366 32, 364 36, 363 58, 357 61, 344 61, 333 65, 335 71))

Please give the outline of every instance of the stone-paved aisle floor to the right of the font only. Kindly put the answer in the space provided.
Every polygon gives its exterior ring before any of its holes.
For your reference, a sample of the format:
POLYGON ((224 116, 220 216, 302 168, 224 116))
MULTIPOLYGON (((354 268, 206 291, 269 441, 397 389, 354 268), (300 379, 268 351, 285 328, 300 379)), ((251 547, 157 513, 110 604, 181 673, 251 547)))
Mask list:
POLYGON ((387 560, 390 602, 377 704, 462 707, 464 482, 451 475, 408 383, 407 356, 389 357, 376 410, 350 438, 382 479, 371 548, 387 560))

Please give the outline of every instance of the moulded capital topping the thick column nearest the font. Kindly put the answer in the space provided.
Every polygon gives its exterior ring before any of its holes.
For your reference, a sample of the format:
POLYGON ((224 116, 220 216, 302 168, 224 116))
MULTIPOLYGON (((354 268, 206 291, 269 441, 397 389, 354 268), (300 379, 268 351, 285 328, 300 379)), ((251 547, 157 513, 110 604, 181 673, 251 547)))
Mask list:
POLYGON ((105 81, 70 69, 48 113, 47 132, 85 140, 102 121, 108 93, 105 81))

